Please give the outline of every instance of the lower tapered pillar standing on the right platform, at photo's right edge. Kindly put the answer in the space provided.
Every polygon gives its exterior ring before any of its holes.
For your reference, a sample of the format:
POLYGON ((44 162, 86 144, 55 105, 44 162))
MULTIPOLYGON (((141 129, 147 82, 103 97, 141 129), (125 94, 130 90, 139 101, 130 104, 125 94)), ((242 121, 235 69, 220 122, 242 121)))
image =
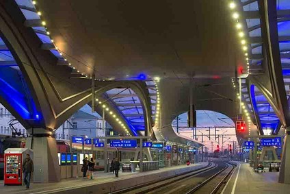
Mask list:
POLYGON ((284 139, 281 169, 279 173, 279 182, 290 184, 290 132, 287 128, 287 136, 284 139))

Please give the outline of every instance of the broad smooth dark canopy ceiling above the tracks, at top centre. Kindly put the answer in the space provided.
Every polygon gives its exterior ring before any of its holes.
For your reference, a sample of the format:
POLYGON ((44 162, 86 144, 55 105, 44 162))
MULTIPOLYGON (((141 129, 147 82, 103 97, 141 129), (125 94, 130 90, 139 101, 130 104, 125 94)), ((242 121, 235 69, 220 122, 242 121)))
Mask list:
POLYGON ((234 76, 243 61, 223 1, 16 2, 42 47, 101 80, 234 76))

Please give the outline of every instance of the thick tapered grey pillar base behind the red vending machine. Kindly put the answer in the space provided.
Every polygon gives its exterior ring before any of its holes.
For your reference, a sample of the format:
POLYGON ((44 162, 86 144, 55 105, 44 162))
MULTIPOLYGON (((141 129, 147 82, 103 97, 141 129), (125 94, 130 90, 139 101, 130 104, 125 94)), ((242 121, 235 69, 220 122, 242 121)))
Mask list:
POLYGON ((34 182, 60 182, 57 144, 53 134, 44 129, 29 129, 26 147, 34 151, 34 182))

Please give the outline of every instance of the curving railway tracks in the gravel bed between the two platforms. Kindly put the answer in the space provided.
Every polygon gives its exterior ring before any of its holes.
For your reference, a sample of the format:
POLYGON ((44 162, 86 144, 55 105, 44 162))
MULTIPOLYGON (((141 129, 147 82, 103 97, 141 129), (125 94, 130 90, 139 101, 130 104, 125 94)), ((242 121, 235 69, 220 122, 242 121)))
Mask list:
POLYGON ((207 167, 166 180, 134 186, 116 193, 218 193, 235 169, 234 164, 211 162, 207 167))

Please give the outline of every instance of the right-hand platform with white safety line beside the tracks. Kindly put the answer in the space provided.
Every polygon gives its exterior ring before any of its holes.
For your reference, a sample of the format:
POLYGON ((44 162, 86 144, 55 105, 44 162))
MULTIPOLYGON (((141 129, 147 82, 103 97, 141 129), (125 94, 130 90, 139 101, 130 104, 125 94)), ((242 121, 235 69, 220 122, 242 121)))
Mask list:
POLYGON ((289 193, 290 185, 278 183, 278 175, 278 172, 256 173, 248 163, 238 163, 222 194, 289 193))

